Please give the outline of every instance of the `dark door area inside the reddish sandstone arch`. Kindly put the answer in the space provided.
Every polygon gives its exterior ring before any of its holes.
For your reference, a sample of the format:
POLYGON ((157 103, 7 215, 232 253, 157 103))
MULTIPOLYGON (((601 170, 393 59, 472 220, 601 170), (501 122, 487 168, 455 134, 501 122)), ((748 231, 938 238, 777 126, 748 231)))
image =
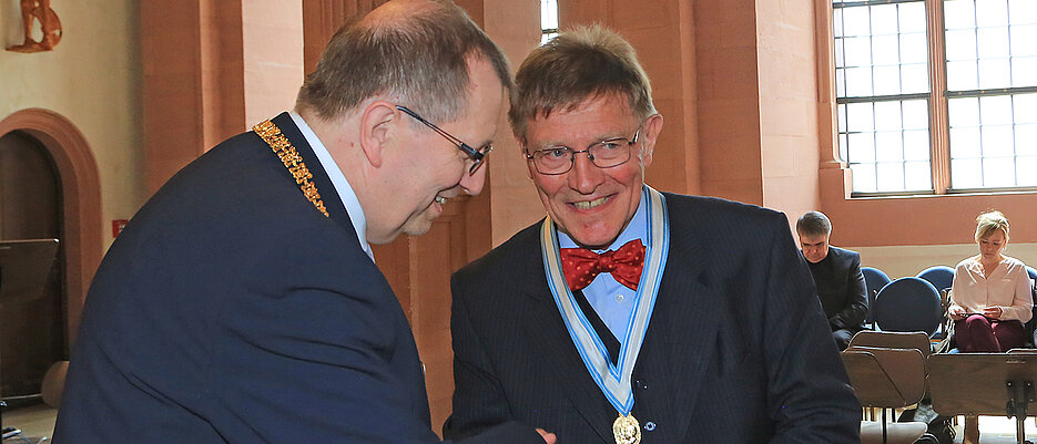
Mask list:
MULTIPOLYGON (((53 158, 34 137, 0 136, 0 240, 62 239, 61 178, 53 158)), ((39 393, 43 373, 67 359, 64 255, 40 297, 0 306, 0 393, 39 393)))

